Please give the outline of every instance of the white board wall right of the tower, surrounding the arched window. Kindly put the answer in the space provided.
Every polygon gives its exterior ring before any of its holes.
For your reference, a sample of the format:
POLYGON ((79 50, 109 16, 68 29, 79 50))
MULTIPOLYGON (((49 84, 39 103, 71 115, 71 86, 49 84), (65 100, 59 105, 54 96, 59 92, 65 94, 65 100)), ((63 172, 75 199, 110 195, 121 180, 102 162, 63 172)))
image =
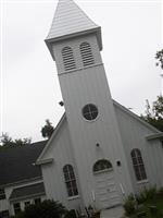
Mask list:
POLYGON ((145 184, 149 186, 154 184, 158 186, 163 185, 162 144, 159 140, 146 140, 146 136, 154 133, 154 130, 143 124, 143 122, 140 122, 138 119, 135 119, 135 117, 124 111, 116 104, 114 107, 135 191, 137 192, 142 184, 141 182, 136 181, 134 173, 130 158, 130 152, 133 148, 139 148, 141 150, 148 178, 145 184))

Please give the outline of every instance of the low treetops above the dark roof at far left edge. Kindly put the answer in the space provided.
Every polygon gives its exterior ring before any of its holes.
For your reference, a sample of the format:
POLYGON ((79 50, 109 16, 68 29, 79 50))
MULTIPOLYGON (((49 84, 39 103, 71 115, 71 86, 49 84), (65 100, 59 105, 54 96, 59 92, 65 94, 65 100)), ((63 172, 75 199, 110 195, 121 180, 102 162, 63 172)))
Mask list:
POLYGON ((12 137, 10 137, 8 135, 8 133, 2 134, 1 136, 1 145, 2 146, 22 146, 22 145, 27 145, 30 144, 32 140, 30 138, 16 138, 16 140, 12 140, 12 137))

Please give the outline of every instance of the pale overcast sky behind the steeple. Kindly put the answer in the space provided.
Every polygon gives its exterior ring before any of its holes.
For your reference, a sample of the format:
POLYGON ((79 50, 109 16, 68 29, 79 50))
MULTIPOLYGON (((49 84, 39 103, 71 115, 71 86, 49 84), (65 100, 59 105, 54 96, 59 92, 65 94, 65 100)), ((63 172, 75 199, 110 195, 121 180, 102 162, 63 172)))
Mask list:
MULTIPOLYGON (((102 28, 101 52, 112 98, 140 114, 161 94, 161 0, 75 0, 102 28)), ((0 133, 42 140, 64 112, 55 63, 45 44, 57 0, 1 0, 0 133)))

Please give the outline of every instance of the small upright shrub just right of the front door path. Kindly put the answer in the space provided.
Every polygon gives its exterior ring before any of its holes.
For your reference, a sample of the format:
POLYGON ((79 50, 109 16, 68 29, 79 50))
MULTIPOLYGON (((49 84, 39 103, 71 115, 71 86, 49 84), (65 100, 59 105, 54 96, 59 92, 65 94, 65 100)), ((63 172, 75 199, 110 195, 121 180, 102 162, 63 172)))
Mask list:
POLYGON ((125 203, 123 205, 125 211, 126 211, 126 215, 131 215, 136 211, 136 199, 134 197, 133 194, 130 194, 126 199, 125 199, 125 203))

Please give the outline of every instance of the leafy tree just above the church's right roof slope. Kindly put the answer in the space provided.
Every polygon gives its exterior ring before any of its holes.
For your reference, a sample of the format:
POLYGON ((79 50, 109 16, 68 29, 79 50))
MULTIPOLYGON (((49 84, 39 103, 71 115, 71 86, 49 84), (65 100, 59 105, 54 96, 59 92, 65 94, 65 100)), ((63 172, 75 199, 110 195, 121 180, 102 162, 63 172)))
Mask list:
POLYGON ((145 116, 141 116, 151 125, 163 132, 163 96, 158 96, 150 106, 147 100, 145 116))

